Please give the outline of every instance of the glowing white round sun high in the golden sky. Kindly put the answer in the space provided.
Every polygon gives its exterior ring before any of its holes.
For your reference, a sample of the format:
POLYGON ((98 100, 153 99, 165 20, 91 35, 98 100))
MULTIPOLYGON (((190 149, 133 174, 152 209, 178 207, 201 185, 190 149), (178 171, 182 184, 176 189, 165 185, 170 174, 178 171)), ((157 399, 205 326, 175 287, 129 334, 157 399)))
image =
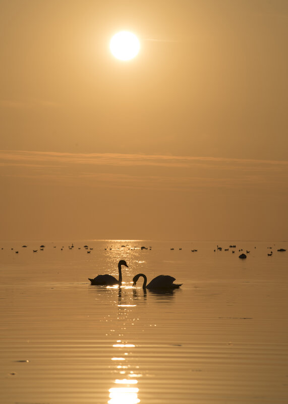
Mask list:
POLYGON ((132 32, 121 31, 111 38, 110 50, 112 55, 117 59, 129 61, 138 54, 140 42, 137 36, 132 32))

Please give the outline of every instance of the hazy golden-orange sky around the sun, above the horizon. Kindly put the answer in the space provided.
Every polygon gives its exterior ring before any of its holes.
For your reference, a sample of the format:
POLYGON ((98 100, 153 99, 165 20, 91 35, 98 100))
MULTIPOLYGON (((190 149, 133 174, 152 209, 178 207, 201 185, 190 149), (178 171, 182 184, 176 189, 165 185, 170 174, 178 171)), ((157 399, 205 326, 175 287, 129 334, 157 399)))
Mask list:
POLYGON ((2 0, 0 30, 1 240, 288 239, 287 0, 2 0))

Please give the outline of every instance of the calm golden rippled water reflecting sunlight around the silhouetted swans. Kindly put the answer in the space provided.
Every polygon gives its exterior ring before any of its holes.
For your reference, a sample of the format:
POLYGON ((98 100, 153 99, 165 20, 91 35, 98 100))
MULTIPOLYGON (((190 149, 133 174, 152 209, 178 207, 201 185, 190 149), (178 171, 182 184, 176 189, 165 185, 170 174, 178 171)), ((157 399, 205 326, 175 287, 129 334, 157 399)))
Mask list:
POLYGON ((40 244, 0 242, 3 404, 288 402, 288 243, 40 244), (90 285, 120 259, 121 288, 90 285), (144 293, 139 272, 183 285, 144 293))

